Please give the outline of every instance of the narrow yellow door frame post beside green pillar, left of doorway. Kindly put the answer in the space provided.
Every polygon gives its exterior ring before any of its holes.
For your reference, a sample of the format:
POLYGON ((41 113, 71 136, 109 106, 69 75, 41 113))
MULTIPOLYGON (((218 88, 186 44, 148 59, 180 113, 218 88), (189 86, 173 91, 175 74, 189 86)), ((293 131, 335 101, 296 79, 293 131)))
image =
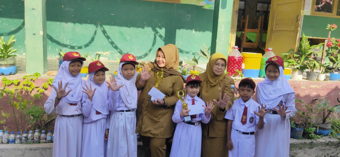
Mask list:
POLYGON ((230 27, 230 38, 229 38, 229 51, 232 51, 232 48, 235 46, 235 40, 236 40, 236 28, 237 28, 237 16, 238 16, 238 5, 240 3, 240 0, 234 0, 233 3, 233 13, 232 13, 232 21, 231 21, 231 27, 230 27))

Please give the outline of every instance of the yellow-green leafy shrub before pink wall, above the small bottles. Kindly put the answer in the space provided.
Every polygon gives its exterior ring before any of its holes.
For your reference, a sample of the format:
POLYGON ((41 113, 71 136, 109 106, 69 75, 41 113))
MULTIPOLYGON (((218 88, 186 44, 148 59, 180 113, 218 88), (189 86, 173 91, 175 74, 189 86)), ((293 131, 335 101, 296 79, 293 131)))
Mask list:
POLYGON ((48 86, 52 85, 53 79, 49 78, 41 86, 35 86, 34 81, 39 76, 39 73, 25 75, 22 77, 22 81, 2 78, 4 89, 0 90, 0 99, 7 101, 11 106, 17 130, 23 129, 23 115, 26 114, 26 108, 36 100, 40 100, 48 86))

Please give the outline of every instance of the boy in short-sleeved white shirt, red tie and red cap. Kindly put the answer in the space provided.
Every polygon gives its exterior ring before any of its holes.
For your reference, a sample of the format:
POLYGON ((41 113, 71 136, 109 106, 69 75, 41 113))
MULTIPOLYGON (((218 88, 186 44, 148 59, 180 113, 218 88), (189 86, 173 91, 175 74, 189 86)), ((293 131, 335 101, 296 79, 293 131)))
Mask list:
POLYGON ((254 156, 255 135, 257 129, 262 129, 265 121, 263 117, 265 107, 252 99, 255 82, 250 78, 243 78, 238 85, 240 98, 225 113, 227 124, 227 147, 229 157, 254 156), (261 107, 261 108, 260 108, 261 107))

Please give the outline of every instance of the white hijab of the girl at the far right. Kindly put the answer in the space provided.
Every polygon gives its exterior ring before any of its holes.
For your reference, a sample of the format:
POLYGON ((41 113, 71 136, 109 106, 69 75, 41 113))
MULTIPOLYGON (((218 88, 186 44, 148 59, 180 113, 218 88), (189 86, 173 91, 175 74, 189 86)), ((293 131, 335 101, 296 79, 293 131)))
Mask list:
MULTIPOLYGON (((266 64, 266 69, 267 69, 268 64, 266 64)), ((267 105, 266 109, 271 109, 273 107, 276 107, 279 104, 279 102, 282 100, 283 95, 288 94, 288 93, 295 93, 292 87, 289 85, 283 73, 282 66, 278 66, 278 68, 280 71, 280 75, 276 80, 271 81, 266 76, 265 80, 262 82, 259 82, 256 86, 257 102, 259 104, 263 104, 263 106, 267 105)))

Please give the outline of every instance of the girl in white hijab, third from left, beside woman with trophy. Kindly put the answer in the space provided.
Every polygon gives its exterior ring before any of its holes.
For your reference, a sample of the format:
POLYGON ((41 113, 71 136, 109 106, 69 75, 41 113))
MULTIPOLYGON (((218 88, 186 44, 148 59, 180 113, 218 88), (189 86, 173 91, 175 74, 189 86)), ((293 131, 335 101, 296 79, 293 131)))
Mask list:
POLYGON ((136 65, 138 62, 134 55, 124 54, 120 59, 117 80, 114 77, 111 79, 108 157, 137 157, 136 65))

